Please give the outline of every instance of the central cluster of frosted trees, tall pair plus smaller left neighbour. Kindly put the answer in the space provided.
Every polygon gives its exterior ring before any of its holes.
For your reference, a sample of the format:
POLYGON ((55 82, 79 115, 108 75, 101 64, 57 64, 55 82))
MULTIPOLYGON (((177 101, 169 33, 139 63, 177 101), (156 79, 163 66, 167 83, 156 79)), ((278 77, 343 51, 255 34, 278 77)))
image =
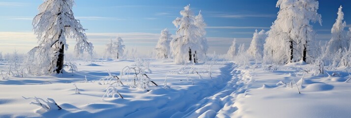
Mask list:
POLYGON ((205 38, 205 21, 201 11, 197 16, 193 15, 190 4, 180 11, 181 18, 173 21, 178 30, 175 38, 167 29, 161 32, 161 37, 156 45, 157 58, 174 58, 175 63, 198 63, 205 59, 208 45, 205 38))

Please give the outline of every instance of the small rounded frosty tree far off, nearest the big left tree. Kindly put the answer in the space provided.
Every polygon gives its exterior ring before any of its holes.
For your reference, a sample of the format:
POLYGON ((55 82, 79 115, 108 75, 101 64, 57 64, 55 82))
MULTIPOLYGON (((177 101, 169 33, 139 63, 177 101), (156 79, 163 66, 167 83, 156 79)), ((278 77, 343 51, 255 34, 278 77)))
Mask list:
POLYGON ((117 37, 117 41, 114 42, 112 39, 108 44, 106 44, 106 55, 113 57, 115 59, 120 59, 123 56, 125 45, 123 45, 123 39, 117 37))

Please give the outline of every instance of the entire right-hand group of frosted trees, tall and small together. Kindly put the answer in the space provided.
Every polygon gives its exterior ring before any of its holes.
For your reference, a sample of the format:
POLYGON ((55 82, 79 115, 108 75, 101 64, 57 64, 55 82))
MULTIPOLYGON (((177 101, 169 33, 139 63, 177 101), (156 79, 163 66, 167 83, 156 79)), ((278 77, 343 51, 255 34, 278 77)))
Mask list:
MULTIPOLYGON (((322 25, 322 16, 317 13, 318 0, 278 0, 276 7, 280 10, 270 30, 258 32, 256 29, 246 52, 237 51, 234 40, 227 54, 230 59, 247 53, 251 56, 247 58, 261 59, 267 64, 313 63, 318 59, 334 67, 351 66, 351 28, 345 30, 342 6, 326 45, 317 45, 316 31, 311 25, 316 22, 322 25)), ((244 48, 241 45, 238 49, 244 48)))

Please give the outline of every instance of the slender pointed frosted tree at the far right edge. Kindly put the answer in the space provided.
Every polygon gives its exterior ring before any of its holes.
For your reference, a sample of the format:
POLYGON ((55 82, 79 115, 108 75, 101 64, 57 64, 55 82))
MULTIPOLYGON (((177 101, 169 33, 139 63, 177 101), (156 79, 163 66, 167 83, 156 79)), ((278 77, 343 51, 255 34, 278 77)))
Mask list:
POLYGON ((331 28, 331 39, 328 42, 327 53, 335 54, 339 49, 349 49, 350 38, 348 36, 348 31, 345 31, 346 22, 344 20, 344 13, 342 11, 342 6, 339 7, 338 18, 336 19, 333 28, 331 28))

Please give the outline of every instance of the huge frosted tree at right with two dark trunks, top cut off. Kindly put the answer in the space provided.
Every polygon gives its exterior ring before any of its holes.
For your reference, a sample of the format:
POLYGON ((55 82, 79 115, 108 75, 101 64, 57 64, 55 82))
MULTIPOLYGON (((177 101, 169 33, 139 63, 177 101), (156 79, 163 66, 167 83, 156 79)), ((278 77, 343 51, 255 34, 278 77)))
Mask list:
POLYGON ((311 57, 309 44, 315 38, 310 22, 322 24, 322 17, 317 13, 319 2, 278 0, 276 6, 280 10, 264 44, 265 62, 307 61, 311 57))

